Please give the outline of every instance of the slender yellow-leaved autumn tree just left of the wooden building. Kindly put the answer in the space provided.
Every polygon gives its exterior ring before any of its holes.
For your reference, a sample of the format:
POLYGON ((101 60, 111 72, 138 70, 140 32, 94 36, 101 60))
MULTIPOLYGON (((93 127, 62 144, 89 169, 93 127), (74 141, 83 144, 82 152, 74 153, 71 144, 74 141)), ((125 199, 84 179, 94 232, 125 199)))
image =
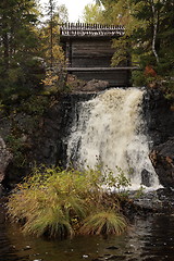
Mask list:
POLYGON ((41 50, 47 66, 44 83, 46 89, 57 92, 64 90, 65 59, 60 44, 60 25, 67 23, 69 15, 66 7, 57 7, 53 0, 49 0, 46 11, 48 18, 40 27, 41 50))

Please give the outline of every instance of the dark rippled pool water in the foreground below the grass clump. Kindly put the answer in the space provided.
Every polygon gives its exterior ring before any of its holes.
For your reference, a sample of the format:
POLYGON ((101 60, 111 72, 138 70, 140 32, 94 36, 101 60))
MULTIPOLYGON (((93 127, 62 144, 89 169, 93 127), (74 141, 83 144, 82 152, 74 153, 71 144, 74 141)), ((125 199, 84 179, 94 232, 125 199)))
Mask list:
POLYGON ((174 261, 174 216, 156 214, 136 219, 128 233, 102 238, 79 236, 72 240, 45 240, 24 236, 4 224, 0 214, 2 261, 174 261))

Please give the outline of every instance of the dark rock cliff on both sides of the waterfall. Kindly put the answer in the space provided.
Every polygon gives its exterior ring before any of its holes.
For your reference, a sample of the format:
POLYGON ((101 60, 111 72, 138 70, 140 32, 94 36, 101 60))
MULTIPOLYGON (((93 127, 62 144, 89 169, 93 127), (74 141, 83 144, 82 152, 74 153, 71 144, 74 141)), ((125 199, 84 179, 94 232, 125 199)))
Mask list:
MULTIPOLYGON (((13 154, 7 162, 5 177, 3 175, 2 178, 5 187, 13 187, 34 165, 65 166, 66 137, 71 132, 76 104, 94 95, 90 90, 54 97, 51 105, 37 117, 35 113, 27 111, 1 117, 0 136, 10 146, 10 153, 13 154)), ((161 184, 174 187, 174 112, 157 89, 147 90, 142 107, 147 132, 152 140, 150 159, 161 184)))

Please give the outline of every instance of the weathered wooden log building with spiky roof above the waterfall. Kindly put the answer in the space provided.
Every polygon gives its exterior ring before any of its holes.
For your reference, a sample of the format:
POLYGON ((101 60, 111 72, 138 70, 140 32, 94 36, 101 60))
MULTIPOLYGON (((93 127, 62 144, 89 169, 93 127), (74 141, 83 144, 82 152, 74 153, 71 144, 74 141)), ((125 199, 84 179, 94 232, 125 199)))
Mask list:
POLYGON ((129 61, 111 67, 116 51, 112 40, 124 35, 123 26, 85 23, 67 23, 60 28, 61 42, 67 62, 67 73, 84 80, 108 80, 110 86, 129 86, 129 61))

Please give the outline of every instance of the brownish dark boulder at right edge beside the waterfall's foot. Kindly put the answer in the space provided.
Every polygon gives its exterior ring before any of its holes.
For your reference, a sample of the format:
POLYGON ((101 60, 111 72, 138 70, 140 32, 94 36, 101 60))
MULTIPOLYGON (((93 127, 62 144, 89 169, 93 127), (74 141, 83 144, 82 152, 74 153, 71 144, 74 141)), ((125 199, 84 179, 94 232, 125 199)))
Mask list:
POLYGON ((164 187, 174 188, 174 137, 166 142, 153 147, 151 162, 164 187))

